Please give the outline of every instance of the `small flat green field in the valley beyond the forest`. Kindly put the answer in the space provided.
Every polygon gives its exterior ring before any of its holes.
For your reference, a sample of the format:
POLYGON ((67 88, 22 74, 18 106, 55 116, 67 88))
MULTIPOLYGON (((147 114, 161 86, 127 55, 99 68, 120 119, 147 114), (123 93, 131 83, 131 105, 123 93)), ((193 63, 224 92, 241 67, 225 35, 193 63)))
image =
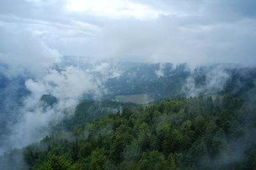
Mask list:
POLYGON ((116 96, 116 101, 122 102, 122 103, 131 102, 136 104, 147 104, 154 100, 147 94, 134 94, 134 95, 116 96))

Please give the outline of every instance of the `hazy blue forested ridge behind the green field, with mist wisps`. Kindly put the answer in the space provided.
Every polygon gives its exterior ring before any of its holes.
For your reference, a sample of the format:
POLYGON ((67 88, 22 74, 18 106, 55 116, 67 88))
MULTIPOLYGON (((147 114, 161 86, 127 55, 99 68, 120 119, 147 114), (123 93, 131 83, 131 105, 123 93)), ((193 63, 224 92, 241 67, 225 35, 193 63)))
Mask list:
POLYGON ((251 88, 255 77, 253 67, 234 64, 212 64, 190 69, 186 64, 139 64, 104 84, 106 99, 116 96, 147 94, 154 101, 173 97, 216 95, 221 90, 251 88))

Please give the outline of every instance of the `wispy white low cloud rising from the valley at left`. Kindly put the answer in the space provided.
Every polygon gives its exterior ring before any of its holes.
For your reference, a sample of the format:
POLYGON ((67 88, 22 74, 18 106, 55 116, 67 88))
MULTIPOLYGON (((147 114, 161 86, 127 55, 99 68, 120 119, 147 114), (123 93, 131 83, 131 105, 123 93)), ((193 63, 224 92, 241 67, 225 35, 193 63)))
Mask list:
POLYGON ((10 127, 12 134, 7 138, 8 145, 14 148, 29 145, 44 137, 51 128, 50 124, 72 115, 84 93, 95 92, 95 95, 100 95, 99 84, 93 81, 93 76, 74 67, 61 72, 51 70, 40 80, 27 80, 25 85, 31 94, 24 99, 24 107, 19 110, 22 115, 10 127), (58 103, 45 109, 40 100, 44 94, 56 97, 58 103))

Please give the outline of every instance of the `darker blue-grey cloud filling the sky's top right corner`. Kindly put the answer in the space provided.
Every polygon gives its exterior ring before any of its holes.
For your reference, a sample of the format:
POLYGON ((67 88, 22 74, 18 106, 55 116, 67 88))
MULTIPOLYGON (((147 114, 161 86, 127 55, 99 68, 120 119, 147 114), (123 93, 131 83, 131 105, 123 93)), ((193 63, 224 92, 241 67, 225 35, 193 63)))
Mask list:
MULTIPOLYGON (((135 1, 134 1, 135 2, 135 1)), ((244 17, 255 17, 256 12, 254 6, 256 2, 253 0, 163 0, 163 1, 140 1, 154 6, 157 9, 165 11, 174 11, 173 14, 184 15, 186 17, 202 17, 211 22, 232 22, 244 17)), ((172 13, 172 12, 171 12, 172 13)))

